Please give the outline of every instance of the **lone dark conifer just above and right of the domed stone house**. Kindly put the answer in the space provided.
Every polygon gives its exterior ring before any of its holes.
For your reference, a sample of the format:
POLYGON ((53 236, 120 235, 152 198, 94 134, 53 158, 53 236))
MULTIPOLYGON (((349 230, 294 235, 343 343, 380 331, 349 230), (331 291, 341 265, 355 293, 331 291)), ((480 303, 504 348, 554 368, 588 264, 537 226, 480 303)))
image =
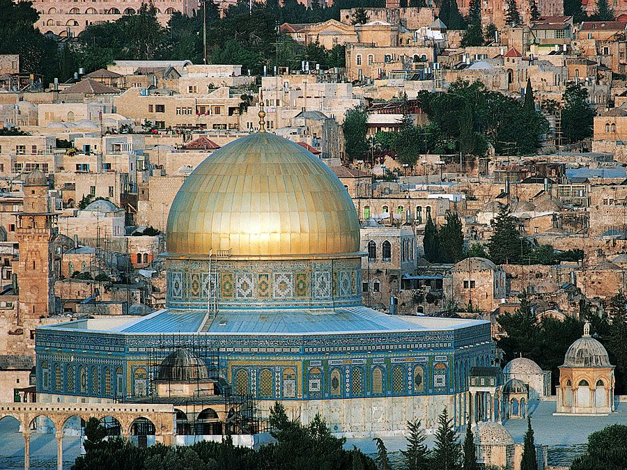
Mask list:
POLYGON ((497 265, 520 263, 524 252, 524 241, 518 231, 518 222, 513 217, 509 205, 499 207, 494 233, 488 242, 490 259, 497 265))

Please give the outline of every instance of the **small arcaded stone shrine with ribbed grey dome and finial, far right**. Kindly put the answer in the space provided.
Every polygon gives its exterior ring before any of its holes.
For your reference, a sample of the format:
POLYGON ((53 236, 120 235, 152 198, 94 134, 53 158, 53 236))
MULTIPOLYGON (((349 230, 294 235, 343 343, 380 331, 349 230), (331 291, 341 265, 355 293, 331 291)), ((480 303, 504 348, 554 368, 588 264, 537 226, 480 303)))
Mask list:
POLYGON ((557 412, 606 416, 614 412, 614 366, 601 343, 590 336, 590 324, 559 366, 557 412))

